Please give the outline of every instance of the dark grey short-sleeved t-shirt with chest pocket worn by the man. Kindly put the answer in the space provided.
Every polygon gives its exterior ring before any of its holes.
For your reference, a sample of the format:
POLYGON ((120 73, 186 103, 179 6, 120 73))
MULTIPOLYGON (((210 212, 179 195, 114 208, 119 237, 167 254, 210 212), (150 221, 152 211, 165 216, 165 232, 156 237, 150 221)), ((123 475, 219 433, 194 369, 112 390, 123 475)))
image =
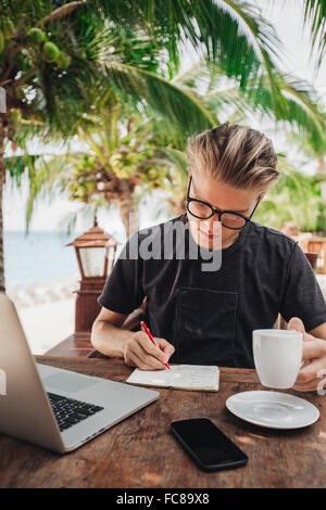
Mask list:
POLYGON ((220 251, 221 268, 203 270, 210 252, 199 251, 188 229, 181 258, 176 235, 173 255, 162 258, 166 232, 176 222, 187 225, 187 215, 134 234, 98 299, 129 314, 147 296, 145 320, 154 336, 175 346, 171 362, 254 368, 252 331, 273 328, 278 313, 287 322, 299 317, 306 331, 326 322, 314 271, 291 238, 249 221, 234 244, 220 251), (155 258, 143 256, 152 246, 155 258))

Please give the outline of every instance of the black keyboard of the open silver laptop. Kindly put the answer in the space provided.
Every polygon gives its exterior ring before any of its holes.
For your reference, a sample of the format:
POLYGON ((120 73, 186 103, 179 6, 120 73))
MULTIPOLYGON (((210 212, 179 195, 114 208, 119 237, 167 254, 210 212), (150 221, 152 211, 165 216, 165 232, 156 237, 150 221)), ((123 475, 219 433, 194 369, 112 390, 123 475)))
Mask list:
POLYGON ((93 404, 74 400, 73 398, 55 395, 54 393, 48 393, 48 397, 61 431, 65 431, 70 426, 104 409, 93 404))

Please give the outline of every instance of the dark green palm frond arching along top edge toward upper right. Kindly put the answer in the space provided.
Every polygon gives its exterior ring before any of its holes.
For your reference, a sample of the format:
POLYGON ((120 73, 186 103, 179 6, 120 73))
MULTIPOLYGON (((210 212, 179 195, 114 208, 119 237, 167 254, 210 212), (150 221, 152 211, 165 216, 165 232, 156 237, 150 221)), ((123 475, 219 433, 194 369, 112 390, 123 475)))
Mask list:
POLYGON ((261 11, 234 0, 101 0, 106 16, 133 29, 147 27, 158 41, 164 40, 175 61, 178 43, 192 47, 198 55, 220 62, 228 77, 242 87, 264 66, 274 68, 273 58, 281 43, 261 11))

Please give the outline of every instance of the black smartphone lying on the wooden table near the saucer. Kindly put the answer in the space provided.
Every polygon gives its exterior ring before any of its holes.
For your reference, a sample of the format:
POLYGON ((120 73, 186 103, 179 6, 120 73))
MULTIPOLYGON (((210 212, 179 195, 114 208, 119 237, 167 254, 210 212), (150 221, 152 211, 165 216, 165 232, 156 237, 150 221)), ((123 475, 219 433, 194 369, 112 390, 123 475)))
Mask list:
POLYGON ((238 468, 248 462, 247 455, 205 418, 174 421, 171 432, 205 471, 238 468))

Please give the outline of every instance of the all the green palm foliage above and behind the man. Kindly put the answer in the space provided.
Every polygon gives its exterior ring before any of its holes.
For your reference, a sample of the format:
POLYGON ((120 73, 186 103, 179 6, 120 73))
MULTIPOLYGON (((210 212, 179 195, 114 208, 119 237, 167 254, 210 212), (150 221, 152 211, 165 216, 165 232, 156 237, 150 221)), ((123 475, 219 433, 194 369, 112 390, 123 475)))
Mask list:
MULTIPOLYGON (((0 7, 0 72, 16 101, 12 132, 28 135, 27 123, 37 122, 43 123, 47 141, 78 133, 89 144, 88 154, 71 154, 66 166, 58 158, 35 164, 27 155, 28 218, 42 187, 54 182, 85 203, 102 200, 98 184, 110 176, 139 183, 143 192, 163 188, 183 200, 186 139, 218 125, 224 109, 233 107, 230 118, 255 110, 290 123, 315 148, 325 141, 324 113, 305 84, 276 71, 280 43, 261 11, 247 2, 11 0, 0 7), (184 81, 176 75, 179 42, 205 56, 205 71, 184 81), (204 74, 209 88, 201 93, 204 74), (233 80, 233 89, 221 91, 223 77, 233 80), (121 104, 128 109, 116 113, 114 105, 121 104), (120 127, 127 126, 130 112, 139 125, 122 137, 120 127)), ((24 167, 17 164, 15 178, 24 167)), ((284 203, 291 201, 291 193, 284 194, 284 203)), ((306 208, 304 221, 312 225, 309 214, 306 208)))

